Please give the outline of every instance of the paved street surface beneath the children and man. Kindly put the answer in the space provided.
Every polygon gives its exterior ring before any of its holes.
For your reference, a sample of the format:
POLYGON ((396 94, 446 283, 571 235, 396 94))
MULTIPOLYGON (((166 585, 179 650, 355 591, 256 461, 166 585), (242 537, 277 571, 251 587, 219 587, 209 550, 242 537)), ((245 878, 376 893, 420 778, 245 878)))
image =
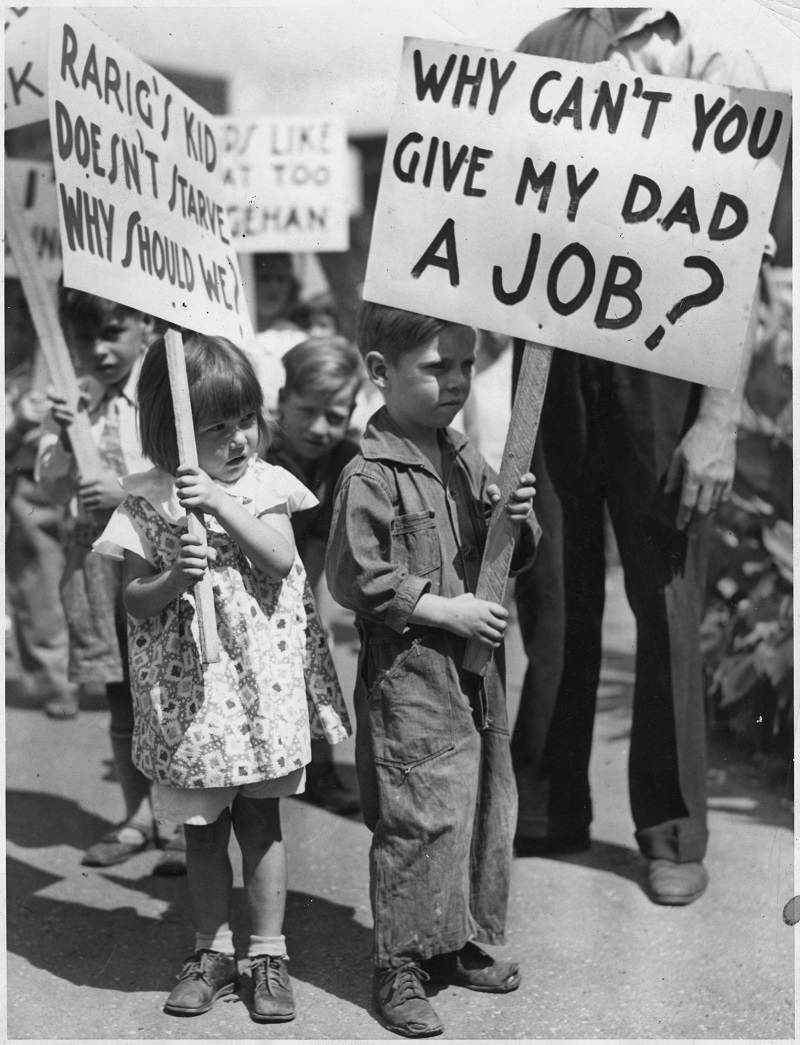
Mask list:
MULTIPOLYGON (((516 860, 508 947, 522 986, 507 997, 454 988, 434 1004, 448 1039, 792 1039, 792 814, 740 753, 715 741, 709 770, 711 885, 687 908, 642 891, 626 761, 634 630, 609 581, 606 661, 592 764, 591 853, 516 860)), ((337 619, 335 657, 352 692, 355 634, 337 619)), ((516 709, 523 657, 510 640, 516 709)), ((352 773, 352 742, 336 749, 352 773)), ((193 1019, 162 1012, 193 943, 185 879, 80 855, 121 813, 108 716, 52 722, 15 699, 6 713, 7 1037, 9 1039, 391 1039, 370 1011, 369 833, 298 799, 284 803, 286 936, 299 1016, 264 1026, 240 998, 193 1019)), ((238 859, 235 931, 245 939, 238 859)))

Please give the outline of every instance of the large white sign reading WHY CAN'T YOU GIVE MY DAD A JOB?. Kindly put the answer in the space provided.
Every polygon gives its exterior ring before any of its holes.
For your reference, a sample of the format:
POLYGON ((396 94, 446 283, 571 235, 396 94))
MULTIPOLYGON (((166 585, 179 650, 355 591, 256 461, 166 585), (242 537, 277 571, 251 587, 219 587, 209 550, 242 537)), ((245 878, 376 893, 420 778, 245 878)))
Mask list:
POLYGON ((791 99, 404 43, 364 298, 731 389, 791 99))

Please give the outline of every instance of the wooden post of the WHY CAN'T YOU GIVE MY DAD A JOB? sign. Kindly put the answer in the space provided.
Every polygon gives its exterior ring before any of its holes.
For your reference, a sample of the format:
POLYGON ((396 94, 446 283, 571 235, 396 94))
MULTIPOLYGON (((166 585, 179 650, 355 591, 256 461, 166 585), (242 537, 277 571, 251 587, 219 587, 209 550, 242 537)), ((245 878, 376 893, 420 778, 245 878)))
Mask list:
MULTIPOLYGON (((494 506, 484 558, 480 562, 476 599, 501 603, 509 582, 511 559, 514 554, 514 526, 505 513, 505 506, 519 477, 531 466, 536 433, 550 372, 552 349, 547 345, 525 342, 522 368, 514 396, 509 435, 500 465, 500 501, 494 506)), ((477 638, 470 638, 464 655, 464 667, 476 675, 484 675, 492 658, 492 650, 477 638)))

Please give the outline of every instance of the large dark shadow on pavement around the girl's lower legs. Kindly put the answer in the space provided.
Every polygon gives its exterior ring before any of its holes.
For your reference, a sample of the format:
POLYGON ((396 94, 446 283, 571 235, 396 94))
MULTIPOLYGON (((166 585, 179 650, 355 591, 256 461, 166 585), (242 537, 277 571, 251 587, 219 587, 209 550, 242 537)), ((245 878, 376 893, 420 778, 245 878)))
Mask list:
MULTIPOLYGON (((98 907, 91 891, 85 903, 42 896, 61 877, 14 857, 7 860, 6 873, 9 953, 79 986, 125 993, 171 990, 193 939, 185 879, 84 873, 167 903, 154 918, 133 905, 98 907)), ((353 907, 290 890, 285 919, 290 973, 369 1011, 372 932, 354 914, 353 907)), ((242 955, 248 925, 241 888, 234 889, 232 921, 237 953, 242 955)), ((242 985, 244 994, 252 990, 249 979, 242 985)))

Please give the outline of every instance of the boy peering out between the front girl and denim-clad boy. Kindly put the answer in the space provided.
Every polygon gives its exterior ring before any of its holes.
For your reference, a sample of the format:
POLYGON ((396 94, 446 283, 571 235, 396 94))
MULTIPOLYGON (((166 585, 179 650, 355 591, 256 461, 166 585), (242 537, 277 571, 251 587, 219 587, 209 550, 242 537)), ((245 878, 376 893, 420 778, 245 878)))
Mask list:
MULTIPOLYGON (((358 452, 347 436, 363 365, 345 338, 311 338, 283 357, 286 381, 278 403, 278 437, 267 460, 282 465, 310 489, 319 505, 291 517, 298 554, 308 581, 320 597, 324 585, 325 548, 333 517, 333 493, 342 470, 358 452)), ((339 779, 330 746, 311 744, 303 796, 345 816, 357 813, 358 796, 339 779)))

